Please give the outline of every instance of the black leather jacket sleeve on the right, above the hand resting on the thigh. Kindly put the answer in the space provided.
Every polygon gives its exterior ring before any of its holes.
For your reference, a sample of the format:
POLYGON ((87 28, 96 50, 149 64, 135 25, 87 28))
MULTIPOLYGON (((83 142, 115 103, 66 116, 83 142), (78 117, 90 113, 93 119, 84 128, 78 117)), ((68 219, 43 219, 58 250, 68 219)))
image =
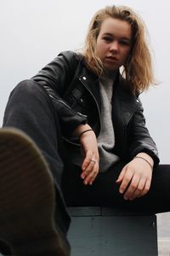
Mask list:
POLYGON ((139 101, 139 108, 133 114, 130 122, 128 148, 129 156, 132 159, 139 152, 149 154, 154 160, 154 166, 158 165, 159 158, 156 143, 150 137, 150 133, 145 126, 144 109, 139 101))

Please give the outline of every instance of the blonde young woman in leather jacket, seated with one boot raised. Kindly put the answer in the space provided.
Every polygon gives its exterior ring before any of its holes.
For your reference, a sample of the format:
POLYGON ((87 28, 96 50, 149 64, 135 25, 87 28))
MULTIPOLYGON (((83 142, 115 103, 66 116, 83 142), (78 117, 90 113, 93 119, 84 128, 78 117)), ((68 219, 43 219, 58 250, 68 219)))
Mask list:
POLYGON ((66 206, 170 210, 170 168, 139 100, 153 83, 144 22, 110 6, 81 53, 60 53, 14 88, 0 131, 0 237, 13 253, 69 255, 66 206))

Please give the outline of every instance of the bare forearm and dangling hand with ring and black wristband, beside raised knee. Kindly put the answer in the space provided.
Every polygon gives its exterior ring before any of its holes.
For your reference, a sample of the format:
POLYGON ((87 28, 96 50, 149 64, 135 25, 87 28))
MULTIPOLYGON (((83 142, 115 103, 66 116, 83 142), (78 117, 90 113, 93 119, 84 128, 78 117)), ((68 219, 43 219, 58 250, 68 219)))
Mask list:
POLYGON ((88 129, 92 128, 89 125, 79 125, 76 133, 80 135, 86 131, 80 137, 82 155, 84 156, 81 177, 85 185, 92 185, 99 173, 99 151, 95 133, 94 131, 87 131, 88 129))

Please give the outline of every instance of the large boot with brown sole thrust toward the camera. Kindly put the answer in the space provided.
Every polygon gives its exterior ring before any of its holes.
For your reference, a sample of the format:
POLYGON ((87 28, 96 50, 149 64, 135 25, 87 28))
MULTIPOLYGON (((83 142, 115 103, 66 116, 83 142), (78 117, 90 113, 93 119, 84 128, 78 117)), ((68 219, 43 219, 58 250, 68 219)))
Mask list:
POLYGON ((1 129, 0 240, 12 254, 70 255, 54 206, 54 179, 36 144, 20 130, 1 129))

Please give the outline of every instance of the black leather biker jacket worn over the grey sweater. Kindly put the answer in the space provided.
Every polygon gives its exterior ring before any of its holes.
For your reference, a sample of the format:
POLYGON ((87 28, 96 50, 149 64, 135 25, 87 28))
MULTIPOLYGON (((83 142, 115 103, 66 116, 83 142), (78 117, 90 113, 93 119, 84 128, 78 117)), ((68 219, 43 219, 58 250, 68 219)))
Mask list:
MULTIPOLYGON (((70 140, 77 125, 88 123, 99 136, 101 127, 99 78, 86 67, 82 55, 60 53, 32 79, 42 84, 54 102, 63 136, 70 140)), ((115 131, 114 153, 132 160, 139 152, 150 154, 159 163, 156 144, 145 127, 139 96, 128 90, 120 74, 114 83, 112 120, 115 131)))

